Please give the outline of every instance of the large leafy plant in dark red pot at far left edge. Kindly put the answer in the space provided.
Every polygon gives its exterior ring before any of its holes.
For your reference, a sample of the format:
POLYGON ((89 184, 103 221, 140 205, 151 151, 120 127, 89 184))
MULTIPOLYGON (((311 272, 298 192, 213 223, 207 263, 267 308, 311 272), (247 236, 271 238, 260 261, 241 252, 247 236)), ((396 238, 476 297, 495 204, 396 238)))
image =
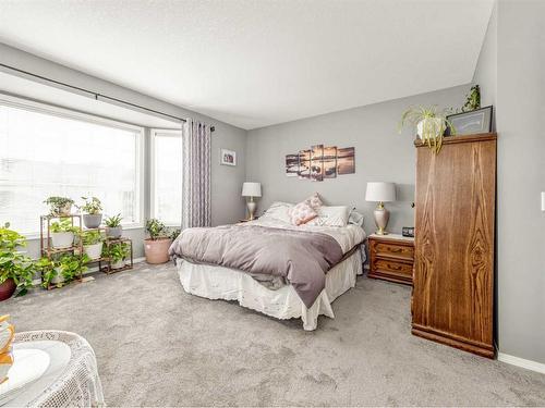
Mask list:
POLYGON ((10 230, 9 223, 0 226, 0 301, 17 289, 16 296, 22 296, 33 285, 34 262, 19 250, 25 246, 25 237, 10 230))

